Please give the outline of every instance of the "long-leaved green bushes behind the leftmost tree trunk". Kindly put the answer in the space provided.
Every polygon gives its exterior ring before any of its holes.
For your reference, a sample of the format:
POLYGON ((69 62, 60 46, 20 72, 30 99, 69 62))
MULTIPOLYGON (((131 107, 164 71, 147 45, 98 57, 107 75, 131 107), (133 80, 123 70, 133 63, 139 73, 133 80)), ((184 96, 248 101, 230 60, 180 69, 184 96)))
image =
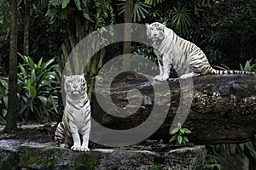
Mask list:
MULTIPOLYGON (((57 116, 57 93, 60 91, 59 65, 55 59, 35 63, 31 57, 20 54, 22 64, 18 71, 18 108, 20 122, 34 120, 49 122, 57 116)), ((0 79, 0 122, 5 123, 8 107, 8 78, 0 79)))

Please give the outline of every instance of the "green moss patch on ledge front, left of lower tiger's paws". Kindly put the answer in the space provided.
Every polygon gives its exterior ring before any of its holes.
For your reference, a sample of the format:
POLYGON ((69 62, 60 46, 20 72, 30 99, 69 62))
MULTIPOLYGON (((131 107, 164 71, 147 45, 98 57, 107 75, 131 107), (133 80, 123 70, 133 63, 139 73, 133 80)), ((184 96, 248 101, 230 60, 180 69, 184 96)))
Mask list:
POLYGON ((20 153, 20 166, 27 167, 27 165, 38 166, 38 167, 53 167, 57 162, 54 153, 48 152, 42 156, 39 154, 25 154, 20 153))

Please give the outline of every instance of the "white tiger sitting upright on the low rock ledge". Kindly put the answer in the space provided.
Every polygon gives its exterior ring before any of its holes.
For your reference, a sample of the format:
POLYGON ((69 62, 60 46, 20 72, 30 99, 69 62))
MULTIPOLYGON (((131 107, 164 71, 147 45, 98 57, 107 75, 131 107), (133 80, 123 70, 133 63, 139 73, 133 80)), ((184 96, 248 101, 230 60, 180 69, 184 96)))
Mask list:
POLYGON ((64 89, 66 106, 55 132, 55 143, 65 148, 72 146, 71 150, 89 151, 90 101, 84 75, 64 76, 64 89))

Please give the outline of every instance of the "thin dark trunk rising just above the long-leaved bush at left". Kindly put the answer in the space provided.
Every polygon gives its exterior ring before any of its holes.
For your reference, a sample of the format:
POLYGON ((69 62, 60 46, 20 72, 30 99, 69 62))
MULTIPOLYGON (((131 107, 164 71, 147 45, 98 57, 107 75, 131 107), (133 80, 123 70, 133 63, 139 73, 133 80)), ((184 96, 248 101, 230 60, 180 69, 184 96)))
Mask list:
POLYGON ((29 55, 29 23, 30 23, 30 0, 26 0, 25 4, 25 17, 24 17, 24 39, 23 39, 23 54, 29 55))

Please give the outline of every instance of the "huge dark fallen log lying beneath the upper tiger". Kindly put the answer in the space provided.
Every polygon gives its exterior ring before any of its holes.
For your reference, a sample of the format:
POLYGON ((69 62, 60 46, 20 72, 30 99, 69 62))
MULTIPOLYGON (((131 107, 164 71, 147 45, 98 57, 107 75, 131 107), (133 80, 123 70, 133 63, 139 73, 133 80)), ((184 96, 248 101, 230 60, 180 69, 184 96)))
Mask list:
MULTIPOLYGON (((253 139, 256 133, 255 76, 195 77, 192 85, 188 83, 189 86, 183 86, 182 90, 180 84, 183 82, 177 79, 169 80, 170 93, 167 94, 161 92, 164 91, 165 87, 162 85, 165 82, 155 82, 152 77, 148 81, 148 78, 139 74, 126 72, 116 77, 113 82, 108 76, 103 78, 102 86, 108 87, 111 83, 111 89, 108 92, 108 88, 102 87, 102 91, 98 94, 108 105, 108 111, 102 111, 95 96, 92 98, 91 107, 92 117, 105 127, 119 130, 137 127, 148 120, 148 116, 153 114, 153 109, 157 108, 159 116, 166 111, 166 119, 160 128, 152 133, 153 139, 168 141, 171 138, 170 127, 176 126, 177 122, 183 123, 183 127, 192 131, 188 135, 189 141, 195 144, 242 143, 253 139), (128 102, 127 92, 134 91, 134 88, 140 90, 143 95, 136 92, 128 102), (106 99, 106 95, 111 96, 111 101, 106 99), (137 99, 140 102, 132 102, 137 99), (124 114, 115 107, 126 107, 127 110, 128 105, 138 108, 133 115, 127 117, 110 115, 124 114), (167 109, 161 109, 164 107, 167 109)), ((158 117, 155 121, 158 121, 158 117)), ((154 122, 151 124, 153 125, 154 122)))

